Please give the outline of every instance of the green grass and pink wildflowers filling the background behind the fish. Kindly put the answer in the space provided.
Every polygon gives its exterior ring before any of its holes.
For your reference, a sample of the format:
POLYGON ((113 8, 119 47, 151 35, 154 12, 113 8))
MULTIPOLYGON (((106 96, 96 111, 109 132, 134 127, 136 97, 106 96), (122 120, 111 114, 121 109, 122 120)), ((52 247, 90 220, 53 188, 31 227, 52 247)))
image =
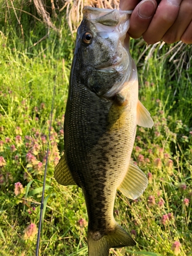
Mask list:
MULTIPOLYGON (((75 30, 83 5, 116 1, 0 0, 0 255, 35 255, 42 181, 50 146, 40 255, 87 255, 82 191, 60 186, 54 166, 75 30), (53 121, 49 138, 52 99, 53 121)), ((192 48, 130 41, 139 98, 153 129, 138 127, 133 160, 149 185, 137 200, 117 192, 114 215, 137 241, 110 255, 192 255, 192 48)))

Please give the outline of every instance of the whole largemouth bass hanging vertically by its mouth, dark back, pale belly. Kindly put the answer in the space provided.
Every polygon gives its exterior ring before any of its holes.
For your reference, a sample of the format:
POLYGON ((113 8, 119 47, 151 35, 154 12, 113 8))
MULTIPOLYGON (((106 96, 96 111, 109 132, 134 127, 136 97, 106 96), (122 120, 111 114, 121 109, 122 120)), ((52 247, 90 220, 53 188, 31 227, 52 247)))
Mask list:
POLYGON ((86 6, 78 27, 64 122, 64 154, 54 177, 77 185, 88 212, 88 254, 135 240, 114 219, 117 189, 136 199, 148 180, 131 161, 137 124, 152 127, 138 99, 137 68, 127 31, 132 11, 86 6))

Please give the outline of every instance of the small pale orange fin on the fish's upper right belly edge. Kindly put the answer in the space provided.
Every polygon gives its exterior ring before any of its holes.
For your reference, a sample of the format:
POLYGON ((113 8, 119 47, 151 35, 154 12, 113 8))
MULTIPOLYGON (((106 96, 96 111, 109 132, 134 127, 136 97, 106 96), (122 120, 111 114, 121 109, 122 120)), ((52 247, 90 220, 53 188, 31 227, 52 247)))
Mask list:
POLYGON ((154 125, 150 112, 148 112, 139 100, 137 103, 137 124, 146 128, 152 128, 154 125))

